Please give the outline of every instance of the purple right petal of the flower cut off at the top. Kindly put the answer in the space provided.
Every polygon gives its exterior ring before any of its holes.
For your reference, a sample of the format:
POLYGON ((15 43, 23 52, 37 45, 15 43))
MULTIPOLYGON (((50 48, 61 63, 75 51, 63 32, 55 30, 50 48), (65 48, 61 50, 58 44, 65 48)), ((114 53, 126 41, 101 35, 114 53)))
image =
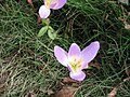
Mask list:
POLYGON ((56 0, 55 3, 51 4, 50 5, 50 9, 53 9, 53 10, 58 10, 61 8, 63 8, 63 5, 67 2, 67 0, 56 0))

